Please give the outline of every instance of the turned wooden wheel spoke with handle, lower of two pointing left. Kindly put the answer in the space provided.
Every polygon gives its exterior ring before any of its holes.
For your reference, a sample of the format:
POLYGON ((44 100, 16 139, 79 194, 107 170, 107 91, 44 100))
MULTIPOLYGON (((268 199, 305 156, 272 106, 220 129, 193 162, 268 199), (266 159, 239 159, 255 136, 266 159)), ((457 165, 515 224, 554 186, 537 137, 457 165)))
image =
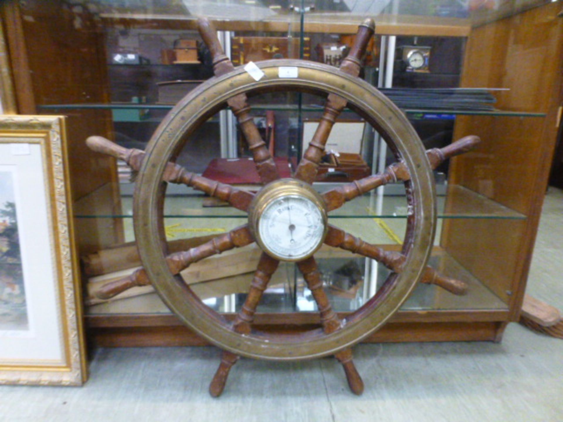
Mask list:
MULTIPOLYGON (((220 254, 229 249, 242 248, 253 243, 253 241, 254 238, 248 230, 248 225, 240 226, 228 233, 218 235, 202 245, 195 246, 195 248, 188 249, 185 252, 170 254, 166 257, 166 263, 172 274, 176 275, 191 264, 204 258, 220 254)), ((150 284, 151 281, 146 274, 145 268, 138 268, 128 277, 105 284, 97 291, 96 297, 99 299, 111 299, 133 287, 148 286, 150 284)))

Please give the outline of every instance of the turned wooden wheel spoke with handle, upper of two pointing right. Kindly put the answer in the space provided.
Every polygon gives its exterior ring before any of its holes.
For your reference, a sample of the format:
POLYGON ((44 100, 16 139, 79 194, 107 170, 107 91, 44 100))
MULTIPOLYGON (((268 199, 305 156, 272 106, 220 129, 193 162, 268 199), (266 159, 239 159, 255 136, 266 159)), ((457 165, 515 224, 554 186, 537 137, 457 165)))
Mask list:
MULTIPOLYGON (((434 148, 427 150, 426 156, 428 157, 428 161, 430 161, 432 169, 435 169, 443 163, 444 160, 472 150, 480 141, 480 138, 477 136, 466 136, 442 149, 434 148)), ((357 196, 367 194, 369 191, 379 186, 396 181, 405 182, 409 179, 409 170, 404 163, 399 162, 391 164, 383 173, 372 174, 372 176, 364 177, 361 180, 356 180, 325 192, 323 198, 327 203, 327 210, 332 211, 340 208, 347 201, 351 201, 357 196)))

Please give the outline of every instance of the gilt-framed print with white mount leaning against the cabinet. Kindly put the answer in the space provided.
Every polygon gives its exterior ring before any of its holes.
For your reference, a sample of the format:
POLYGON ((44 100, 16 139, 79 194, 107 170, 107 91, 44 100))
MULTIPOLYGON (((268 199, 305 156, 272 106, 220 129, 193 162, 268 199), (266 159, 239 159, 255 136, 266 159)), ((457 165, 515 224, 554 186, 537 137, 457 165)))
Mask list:
POLYGON ((0 383, 86 379, 65 120, 0 115, 0 383))

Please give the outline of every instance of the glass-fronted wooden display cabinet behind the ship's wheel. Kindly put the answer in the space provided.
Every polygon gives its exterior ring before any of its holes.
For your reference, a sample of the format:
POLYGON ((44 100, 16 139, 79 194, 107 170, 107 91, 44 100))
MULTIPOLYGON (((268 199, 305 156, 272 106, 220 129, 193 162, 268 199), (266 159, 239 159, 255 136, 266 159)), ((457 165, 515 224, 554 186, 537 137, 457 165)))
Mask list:
MULTIPOLYGON (((3 3, 14 111, 68 116, 90 339, 106 346, 205 344, 150 285, 99 297, 104 285, 141 265, 133 232, 137 174, 85 143, 96 135, 145 149, 176 103, 213 77, 212 53, 197 30, 197 17, 205 16, 235 66, 302 59, 335 68, 358 25, 374 19, 359 77, 400 107, 426 149, 468 135, 481 142, 434 170, 437 223, 429 263, 464 282, 467 294, 419 284, 365 341, 499 341, 519 317, 559 124, 561 102, 552 93, 561 83, 560 12, 560 2, 546 1, 3 3)), ((249 95, 252 120, 280 173, 296 171, 323 118, 324 101, 318 93, 290 90, 249 95)), ((184 141, 175 162, 189 172, 258 189, 252 150, 233 107, 206 116, 184 141)), ((397 159, 354 107, 342 111, 326 152, 312 185, 321 194, 382 173, 397 159)), ((244 212, 228 205, 194 188, 168 185, 162 212, 168 249, 197 246, 247 222, 244 212)), ((396 182, 334 210, 328 221, 398 251, 410 214, 404 183, 396 182)), ((257 251, 255 245, 234 249, 181 274, 208 307, 234 316, 247 297, 257 251)), ((374 259, 329 246, 315 256, 330 304, 342 316, 364 306, 391 272, 374 259)), ((285 262, 263 294, 256 324, 298 332, 319 323, 316 311, 296 264, 285 262)))

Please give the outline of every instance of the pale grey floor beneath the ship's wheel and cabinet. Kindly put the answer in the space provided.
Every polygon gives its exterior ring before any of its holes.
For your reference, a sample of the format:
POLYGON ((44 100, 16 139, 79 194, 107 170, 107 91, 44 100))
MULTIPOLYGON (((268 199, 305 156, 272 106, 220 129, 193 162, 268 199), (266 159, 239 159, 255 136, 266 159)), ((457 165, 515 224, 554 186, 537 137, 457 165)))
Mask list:
MULTIPOLYGON (((546 197, 528 292, 563 309, 563 191, 546 197)), ((99 349, 81 388, 0 387, 0 421, 561 421, 563 341, 359 345, 365 393, 334 359, 242 360, 212 399, 215 348, 99 349)))

